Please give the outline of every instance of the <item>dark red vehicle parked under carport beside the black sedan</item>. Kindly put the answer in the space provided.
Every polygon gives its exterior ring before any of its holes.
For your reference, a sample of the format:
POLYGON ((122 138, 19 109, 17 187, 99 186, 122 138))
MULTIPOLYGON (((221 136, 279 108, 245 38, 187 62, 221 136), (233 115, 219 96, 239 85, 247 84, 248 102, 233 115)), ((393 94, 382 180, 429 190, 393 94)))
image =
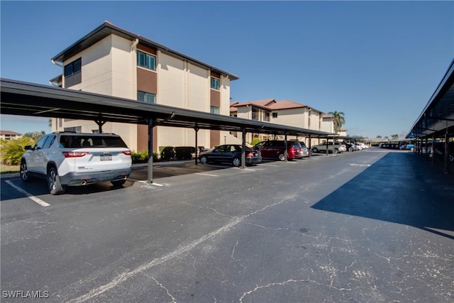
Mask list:
MULTIPOLYGON (((255 149, 260 150, 263 158, 285 160, 285 141, 270 140, 255 144, 255 149)), ((298 141, 287 141, 287 159, 301 158, 301 144, 298 141)))

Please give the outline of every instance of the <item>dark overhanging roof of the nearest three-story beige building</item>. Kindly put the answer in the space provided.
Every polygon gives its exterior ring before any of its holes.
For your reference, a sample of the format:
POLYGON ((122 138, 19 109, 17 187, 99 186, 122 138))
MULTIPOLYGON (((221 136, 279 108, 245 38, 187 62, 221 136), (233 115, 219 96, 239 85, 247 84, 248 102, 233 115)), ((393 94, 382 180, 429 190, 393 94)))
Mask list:
POLYGON ((118 35, 127 40, 131 40, 131 43, 132 41, 138 39, 141 44, 160 50, 160 52, 165 53, 166 55, 177 57, 180 60, 191 62, 192 64, 197 65, 199 67, 212 70, 223 75, 224 77, 228 77, 231 80, 239 79, 238 76, 233 75, 229 72, 225 72, 223 70, 218 69, 217 67, 207 65, 204 62, 201 62, 192 57, 179 53, 176 50, 167 48, 167 46, 165 45, 162 45, 160 43, 157 43, 153 40, 145 38, 141 35, 137 35, 130 31, 126 31, 125 29, 119 28, 118 26, 114 26, 114 24, 110 23, 109 21, 104 21, 104 23, 102 23, 101 26, 98 26, 93 31, 91 31, 87 35, 84 35, 84 37, 80 38, 75 43, 70 45, 70 47, 66 48, 65 50, 62 50, 62 52, 52 57, 52 62, 64 62, 68 58, 76 55, 77 53, 82 52, 82 50, 85 50, 90 46, 94 45, 95 43, 99 42, 100 40, 106 38, 108 35, 118 35))

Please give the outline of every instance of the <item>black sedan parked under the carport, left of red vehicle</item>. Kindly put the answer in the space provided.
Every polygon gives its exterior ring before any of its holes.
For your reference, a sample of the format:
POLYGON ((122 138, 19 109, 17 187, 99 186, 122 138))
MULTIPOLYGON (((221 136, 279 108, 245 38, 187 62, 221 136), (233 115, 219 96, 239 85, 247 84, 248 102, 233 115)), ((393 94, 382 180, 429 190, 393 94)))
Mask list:
MULTIPOLYGON (((201 152, 199 160, 201 164, 209 162, 223 162, 231 163, 233 166, 238 167, 241 165, 241 153, 243 148, 238 144, 219 145, 214 150, 201 152)), ((262 156, 259 150, 253 150, 245 147, 245 165, 253 165, 262 162, 262 156)))

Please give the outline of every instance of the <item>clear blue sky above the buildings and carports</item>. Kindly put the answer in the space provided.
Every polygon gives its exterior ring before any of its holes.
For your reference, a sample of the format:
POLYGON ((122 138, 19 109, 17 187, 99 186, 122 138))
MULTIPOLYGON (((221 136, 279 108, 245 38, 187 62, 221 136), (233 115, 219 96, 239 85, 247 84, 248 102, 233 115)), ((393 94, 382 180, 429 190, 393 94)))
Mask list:
MULTIPOLYGON (((343 111, 350 136, 406 135, 454 57, 454 1, 1 1, 1 77, 48 84, 50 59, 104 21, 238 75, 234 101, 343 111)), ((1 116, 1 129, 50 132, 1 116)))

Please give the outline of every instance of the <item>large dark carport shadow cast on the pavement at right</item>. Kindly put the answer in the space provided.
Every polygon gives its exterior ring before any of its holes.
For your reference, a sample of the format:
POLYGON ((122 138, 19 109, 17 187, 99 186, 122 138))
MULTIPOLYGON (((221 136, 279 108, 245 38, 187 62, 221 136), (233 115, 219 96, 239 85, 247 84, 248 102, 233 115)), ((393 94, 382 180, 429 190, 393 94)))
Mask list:
POLYGON ((312 208, 406 224, 454 239, 454 177, 414 153, 388 153, 312 208), (438 230, 443 231, 438 231, 438 230))

